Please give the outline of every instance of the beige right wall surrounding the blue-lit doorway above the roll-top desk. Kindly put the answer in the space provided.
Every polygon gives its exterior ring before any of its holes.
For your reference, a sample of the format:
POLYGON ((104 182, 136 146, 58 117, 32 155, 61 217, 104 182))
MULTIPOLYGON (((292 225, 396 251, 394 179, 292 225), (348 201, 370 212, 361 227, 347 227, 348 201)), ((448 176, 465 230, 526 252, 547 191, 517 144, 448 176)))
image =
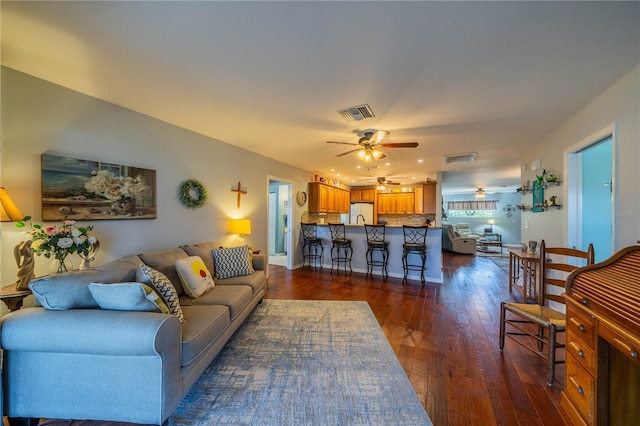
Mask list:
MULTIPOLYGON (((622 77, 571 119, 526 151, 522 162, 542 160, 547 170, 566 176, 563 169, 565 149, 573 147, 608 126, 615 125, 617 134, 618 205, 619 212, 629 212, 618 218, 616 250, 633 245, 640 239, 640 65, 622 77), (635 214, 634 214, 635 213, 635 214)), ((523 171, 522 180, 534 180, 538 172, 523 171)), ((566 197, 566 182, 560 190, 566 197)), ((547 195, 545 194, 545 197, 547 195)), ((522 196, 531 204, 531 194, 522 196)), ((522 240, 545 239, 552 244, 565 244, 567 235, 566 208, 544 213, 522 214, 522 240), (528 226, 527 226, 528 222, 528 226)))

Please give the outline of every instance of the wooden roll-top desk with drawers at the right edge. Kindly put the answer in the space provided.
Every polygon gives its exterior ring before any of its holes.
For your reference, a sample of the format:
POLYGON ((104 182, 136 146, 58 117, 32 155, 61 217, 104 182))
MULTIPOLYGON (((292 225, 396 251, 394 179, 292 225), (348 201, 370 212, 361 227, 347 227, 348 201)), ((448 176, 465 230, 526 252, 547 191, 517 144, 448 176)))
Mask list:
POLYGON ((640 419, 640 246, 567 278, 565 389, 572 424, 635 425, 640 419))

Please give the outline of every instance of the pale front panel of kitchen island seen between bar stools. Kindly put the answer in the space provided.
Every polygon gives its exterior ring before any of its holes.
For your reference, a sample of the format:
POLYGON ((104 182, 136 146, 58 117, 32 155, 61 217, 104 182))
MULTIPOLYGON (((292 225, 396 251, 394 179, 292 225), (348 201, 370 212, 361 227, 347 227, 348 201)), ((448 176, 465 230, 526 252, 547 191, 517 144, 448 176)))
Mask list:
MULTIPOLYGON (((367 273, 367 234, 364 225, 346 225, 347 238, 351 240, 353 257, 351 268, 354 272, 367 273)), ((329 226, 318 224, 318 237, 322 239, 324 246, 324 256, 322 267, 331 269, 331 234, 329 226)), ((402 226, 387 225, 385 240, 388 241, 389 259, 387 272, 390 277, 404 277, 402 268, 402 244, 404 235, 402 226)), ((410 264, 419 264, 420 257, 409 255, 410 264)), ((382 275, 380 267, 373 269, 374 275, 382 275)), ((427 231, 427 262, 425 265, 424 278, 427 282, 442 283, 442 229, 430 227, 427 231)), ((408 279, 420 281, 420 272, 409 271, 408 279)))

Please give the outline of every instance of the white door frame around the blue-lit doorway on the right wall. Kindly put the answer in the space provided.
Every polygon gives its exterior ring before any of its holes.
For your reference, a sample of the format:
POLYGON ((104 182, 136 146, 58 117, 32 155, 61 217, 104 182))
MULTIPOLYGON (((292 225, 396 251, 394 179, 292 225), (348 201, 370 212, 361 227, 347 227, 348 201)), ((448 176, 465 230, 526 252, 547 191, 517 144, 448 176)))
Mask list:
POLYGON ((581 141, 566 148, 563 153, 564 168, 564 199, 566 200, 564 227, 566 229, 567 247, 580 247, 580 230, 582 229, 582 211, 580 205, 580 195, 582 194, 582 184, 579 178, 582 175, 578 156, 580 151, 601 142, 603 139, 611 137, 611 253, 615 253, 618 247, 618 136, 617 123, 610 124, 605 128, 593 133, 581 141))

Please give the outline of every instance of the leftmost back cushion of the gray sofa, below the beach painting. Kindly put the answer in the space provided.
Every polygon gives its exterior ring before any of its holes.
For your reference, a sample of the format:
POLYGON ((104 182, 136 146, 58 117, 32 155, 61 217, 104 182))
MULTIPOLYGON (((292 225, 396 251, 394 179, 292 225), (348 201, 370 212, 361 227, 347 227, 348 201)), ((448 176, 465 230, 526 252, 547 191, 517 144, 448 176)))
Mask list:
POLYGON ((46 309, 90 309, 98 304, 89 291, 89 283, 135 281, 140 259, 129 255, 97 268, 49 275, 31 280, 29 288, 36 304, 46 309))

